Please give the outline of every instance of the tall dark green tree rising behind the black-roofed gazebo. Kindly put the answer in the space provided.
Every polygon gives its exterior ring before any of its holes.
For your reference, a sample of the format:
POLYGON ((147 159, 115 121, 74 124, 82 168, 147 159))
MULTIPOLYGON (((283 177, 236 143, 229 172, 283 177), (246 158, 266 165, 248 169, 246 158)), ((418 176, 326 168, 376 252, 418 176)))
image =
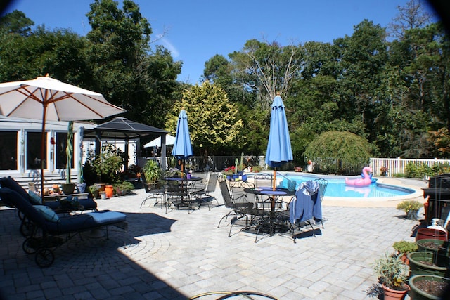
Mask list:
POLYGON ((181 63, 169 51, 150 48, 150 24, 133 1, 122 9, 113 0, 96 0, 87 13, 92 30, 87 51, 94 88, 128 110, 127 117, 162 126, 181 63), (150 53, 150 54, 149 54, 150 53))

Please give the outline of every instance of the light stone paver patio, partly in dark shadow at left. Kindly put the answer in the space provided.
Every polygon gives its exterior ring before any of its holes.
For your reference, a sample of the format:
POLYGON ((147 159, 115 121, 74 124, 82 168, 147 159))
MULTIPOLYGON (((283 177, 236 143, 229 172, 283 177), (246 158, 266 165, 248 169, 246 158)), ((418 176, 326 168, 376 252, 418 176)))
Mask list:
MULTIPOLYGON (((426 187, 425 182, 383 178, 392 185, 426 187)), ((323 224, 316 237, 305 228, 297 243, 289 235, 255 235, 217 223, 224 207, 219 186, 209 210, 188 214, 148 201, 145 190, 97 200, 99 209, 127 214, 127 232, 105 238, 75 237, 41 269, 22 249, 20 220, 0 207, 0 299, 188 299, 212 291, 255 291, 277 299, 373 299, 372 264, 393 252, 399 240, 414 240, 419 221, 405 219, 396 203, 323 200, 323 224)), ((201 297, 202 300, 217 299, 201 297)), ((262 299, 262 298, 255 298, 262 299)), ((406 299, 409 299, 406 296, 406 299)))

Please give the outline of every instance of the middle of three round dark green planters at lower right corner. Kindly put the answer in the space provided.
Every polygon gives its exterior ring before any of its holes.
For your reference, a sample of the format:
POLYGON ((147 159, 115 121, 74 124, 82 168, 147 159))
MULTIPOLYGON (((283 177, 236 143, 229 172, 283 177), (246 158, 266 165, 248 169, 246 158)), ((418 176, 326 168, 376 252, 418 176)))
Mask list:
POLYGON ((449 256, 435 255, 434 252, 411 252, 408 254, 411 278, 414 275, 448 276, 449 256))

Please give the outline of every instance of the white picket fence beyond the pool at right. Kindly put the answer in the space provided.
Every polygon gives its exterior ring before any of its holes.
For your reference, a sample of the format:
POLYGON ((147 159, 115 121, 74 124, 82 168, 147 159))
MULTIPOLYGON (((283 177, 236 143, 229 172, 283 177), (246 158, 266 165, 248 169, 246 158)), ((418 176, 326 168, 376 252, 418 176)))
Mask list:
POLYGON ((387 167, 387 176, 404 174, 406 164, 410 162, 420 165, 426 164, 433 167, 435 164, 450 164, 450 159, 405 159, 405 158, 371 158, 373 176, 380 176, 382 167, 387 167))

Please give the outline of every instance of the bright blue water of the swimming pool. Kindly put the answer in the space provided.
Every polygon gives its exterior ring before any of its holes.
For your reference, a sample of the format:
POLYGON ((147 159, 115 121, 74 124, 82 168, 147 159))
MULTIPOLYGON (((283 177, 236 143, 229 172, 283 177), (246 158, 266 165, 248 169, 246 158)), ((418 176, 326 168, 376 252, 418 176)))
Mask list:
MULTIPOLYGON (((288 181, 292 180, 296 182, 296 188, 304 181, 314 180, 320 178, 319 176, 302 176, 302 175, 280 175, 283 178, 281 185, 283 188, 288 188, 288 181)), ((328 185, 325 191, 327 197, 395 197, 403 196, 415 193, 415 190, 409 188, 402 188, 395 185, 385 185, 381 183, 373 182, 366 187, 354 187, 345 184, 345 178, 333 178, 323 177, 328 180, 328 185)), ((349 177, 351 179, 357 178, 356 176, 349 177)), ((278 179, 278 175, 277 175, 278 179)))

